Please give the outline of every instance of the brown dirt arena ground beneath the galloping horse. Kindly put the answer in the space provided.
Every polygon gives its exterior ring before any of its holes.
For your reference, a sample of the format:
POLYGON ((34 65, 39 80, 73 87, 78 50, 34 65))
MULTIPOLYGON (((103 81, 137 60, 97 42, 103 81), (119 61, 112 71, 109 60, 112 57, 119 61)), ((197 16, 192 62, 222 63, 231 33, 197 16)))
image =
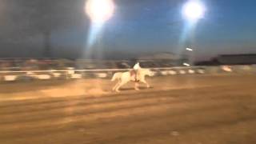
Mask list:
POLYGON ((120 94, 109 80, 2 84, 0 143, 256 143, 255 79, 159 77, 120 94))

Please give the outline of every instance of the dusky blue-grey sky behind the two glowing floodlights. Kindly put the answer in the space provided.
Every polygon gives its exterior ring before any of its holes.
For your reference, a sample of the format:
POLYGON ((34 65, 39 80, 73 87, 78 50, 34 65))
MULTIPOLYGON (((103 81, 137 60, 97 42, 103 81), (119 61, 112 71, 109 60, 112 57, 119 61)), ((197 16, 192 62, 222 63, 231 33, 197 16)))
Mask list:
MULTIPOLYGON (((115 13, 90 49, 103 57, 180 53, 185 0, 115 0, 115 13)), ((193 34, 196 59, 216 54, 256 53, 256 1, 202 0, 207 10, 193 34)), ((0 0, 0 57, 42 57, 50 31, 53 57, 81 58, 90 21, 85 0, 0 0)))

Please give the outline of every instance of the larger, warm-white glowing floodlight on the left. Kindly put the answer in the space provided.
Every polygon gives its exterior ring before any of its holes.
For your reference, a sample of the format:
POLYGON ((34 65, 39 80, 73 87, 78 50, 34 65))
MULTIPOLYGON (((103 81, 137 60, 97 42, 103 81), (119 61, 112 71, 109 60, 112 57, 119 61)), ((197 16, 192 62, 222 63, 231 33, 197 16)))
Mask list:
POLYGON ((105 22, 114 13, 114 2, 113 0, 88 0, 85 11, 92 22, 105 22))

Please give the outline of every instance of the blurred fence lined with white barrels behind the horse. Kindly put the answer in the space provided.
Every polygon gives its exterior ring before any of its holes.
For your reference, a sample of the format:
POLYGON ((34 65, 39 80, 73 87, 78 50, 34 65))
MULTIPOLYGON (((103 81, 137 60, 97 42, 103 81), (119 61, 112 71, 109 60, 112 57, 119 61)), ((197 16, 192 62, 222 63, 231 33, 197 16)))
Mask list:
MULTIPOLYGON (((79 78, 111 78, 115 72, 130 69, 102 70, 29 70, 29 71, 0 71, 0 82, 18 82, 33 80, 79 79, 79 78)), ((150 68, 155 76, 178 74, 256 74, 256 65, 242 66, 182 66, 150 68)))

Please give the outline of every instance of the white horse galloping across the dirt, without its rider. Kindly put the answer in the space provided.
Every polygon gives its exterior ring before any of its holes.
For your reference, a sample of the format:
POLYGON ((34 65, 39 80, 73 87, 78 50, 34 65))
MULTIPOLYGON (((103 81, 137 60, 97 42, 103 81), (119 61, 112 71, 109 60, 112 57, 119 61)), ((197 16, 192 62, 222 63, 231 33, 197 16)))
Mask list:
MULTIPOLYGON (((146 82, 145 76, 153 76, 154 72, 149 69, 139 69, 138 70, 138 82, 146 84, 146 87, 149 88, 150 85, 146 82)), ((131 74, 130 71, 114 73, 111 81, 114 82, 118 80, 118 83, 113 87, 113 91, 119 92, 121 86, 125 85, 127 82, 135 82, 135 76, 131 74)), ((138 82, 135 82, 134 89, 138 90, 138 82)))

